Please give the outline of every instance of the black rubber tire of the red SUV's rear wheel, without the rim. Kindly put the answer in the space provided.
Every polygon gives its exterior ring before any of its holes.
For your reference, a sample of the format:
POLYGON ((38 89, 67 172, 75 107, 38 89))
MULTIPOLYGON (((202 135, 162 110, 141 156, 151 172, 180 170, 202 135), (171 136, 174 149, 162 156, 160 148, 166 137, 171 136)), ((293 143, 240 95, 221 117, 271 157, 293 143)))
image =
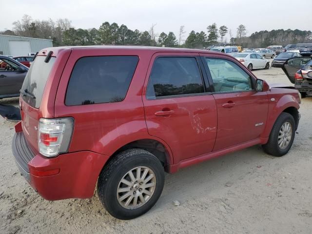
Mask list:
POLYGON ((163 186, 164 168, 158 158, 146 150, 129 149, 119 153, 103 168, 98 178, 98 197, 110 215, 118 219, 132 219, 145 214, 155 205, 163 186), (126 209, 118 202, 117 188, 123 176, 139 166, 153 171, 156 187, 145 204, 133 210, 126 209))

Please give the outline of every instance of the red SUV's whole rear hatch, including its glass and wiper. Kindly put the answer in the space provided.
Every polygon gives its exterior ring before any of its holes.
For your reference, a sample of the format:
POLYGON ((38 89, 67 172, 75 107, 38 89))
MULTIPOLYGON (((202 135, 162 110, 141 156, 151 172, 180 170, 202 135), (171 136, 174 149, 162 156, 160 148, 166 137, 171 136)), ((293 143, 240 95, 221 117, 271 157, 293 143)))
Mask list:
POLYGON ((39 119, 54 117, 54 100, 59 78, 70 51, 68 48, 65 51, 67 53, 60 53, 58 48, 40 51, 24 79, 20 91, 21 124, 24 137, 35 153, 39 152, 39 119))

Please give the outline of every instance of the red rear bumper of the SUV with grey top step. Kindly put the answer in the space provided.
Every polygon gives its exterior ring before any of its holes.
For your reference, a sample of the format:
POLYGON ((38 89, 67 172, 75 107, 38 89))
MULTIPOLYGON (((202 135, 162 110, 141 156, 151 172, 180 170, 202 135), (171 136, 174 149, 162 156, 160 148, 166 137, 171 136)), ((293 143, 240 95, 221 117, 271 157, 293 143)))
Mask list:
POLYGON ((92 197, 108 159, 90 151, 46 158, 31 150, 23 132, 14 135, 12 152, 21 174, 47 200, 92 197))

